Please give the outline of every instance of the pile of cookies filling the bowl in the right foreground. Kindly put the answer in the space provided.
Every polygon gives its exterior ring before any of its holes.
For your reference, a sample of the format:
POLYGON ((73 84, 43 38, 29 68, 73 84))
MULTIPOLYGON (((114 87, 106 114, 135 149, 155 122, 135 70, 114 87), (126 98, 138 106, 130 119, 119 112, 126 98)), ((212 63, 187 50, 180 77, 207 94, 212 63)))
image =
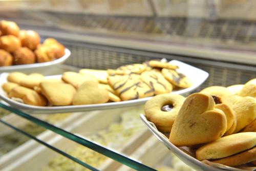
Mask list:
POLYGON ((195 157, 228 166, 256 161, 256 79, 227 88, 212 86, 187 98, 158 95, 144 106, 147 120, 195 157))

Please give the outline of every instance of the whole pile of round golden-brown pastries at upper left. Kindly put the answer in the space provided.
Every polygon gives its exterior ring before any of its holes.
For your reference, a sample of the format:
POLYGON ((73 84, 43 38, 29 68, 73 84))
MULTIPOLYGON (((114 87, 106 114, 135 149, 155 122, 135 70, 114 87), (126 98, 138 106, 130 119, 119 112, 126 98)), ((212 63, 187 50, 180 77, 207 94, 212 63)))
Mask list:
POLYGON ((65 47, 53 38, 40 44, 33 30, 20 30, 16 23, 0 20, 0 67, 48 62, 65 55, 65 47))

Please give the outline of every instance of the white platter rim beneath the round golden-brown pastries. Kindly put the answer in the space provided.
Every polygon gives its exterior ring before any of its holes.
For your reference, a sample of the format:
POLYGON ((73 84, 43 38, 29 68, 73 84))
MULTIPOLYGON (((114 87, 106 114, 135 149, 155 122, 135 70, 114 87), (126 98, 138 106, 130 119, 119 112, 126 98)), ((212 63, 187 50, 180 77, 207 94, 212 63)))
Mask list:
POLYGON ((13 71, 28 71, 28 70, 37 70, 37 69, 42 69, 42 68, 47 68, 47 67, 52 67, 54 65, 57 65, 59 63, 64 62, 67 60, 70 56, 71 52, 69 49, 65 49, 65 55, 62 57, 55 59, 53 61, 49 62, 41 62, 41 63, 32 63, 32 64, 26 64, 26 65, 17 65, 17 66, 7 66, 7 67, 0 67, 0 73, 3 72, 13 72, 13 71))

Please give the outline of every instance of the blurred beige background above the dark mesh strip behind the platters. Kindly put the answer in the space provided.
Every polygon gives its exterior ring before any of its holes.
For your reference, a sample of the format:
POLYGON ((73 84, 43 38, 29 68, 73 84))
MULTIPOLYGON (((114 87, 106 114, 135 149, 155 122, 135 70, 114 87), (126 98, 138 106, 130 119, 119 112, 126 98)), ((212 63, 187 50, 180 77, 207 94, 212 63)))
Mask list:
POLYGON ((256 64, 253 0, 0 1, 24 29, 146 51, 256 64))

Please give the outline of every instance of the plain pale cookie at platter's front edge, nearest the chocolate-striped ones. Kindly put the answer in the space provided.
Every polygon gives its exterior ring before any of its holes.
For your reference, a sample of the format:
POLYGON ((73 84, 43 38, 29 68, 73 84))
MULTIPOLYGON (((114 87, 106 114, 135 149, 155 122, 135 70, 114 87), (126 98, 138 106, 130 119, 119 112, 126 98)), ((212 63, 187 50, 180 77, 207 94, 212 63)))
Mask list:
POLYGON ((72 100, 73 105, 98 104, 109 101, 109 92, 99 89, 95 81, 86 81, 78 88, 72 100))

